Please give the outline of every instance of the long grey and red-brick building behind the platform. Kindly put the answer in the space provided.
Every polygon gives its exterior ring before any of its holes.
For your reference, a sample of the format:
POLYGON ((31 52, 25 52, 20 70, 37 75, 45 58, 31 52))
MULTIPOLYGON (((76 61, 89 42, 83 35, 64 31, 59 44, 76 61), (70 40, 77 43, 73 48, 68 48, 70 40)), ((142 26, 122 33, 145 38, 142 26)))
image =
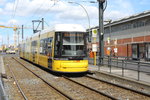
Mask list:
POLYGON ((150 11, 104 25, 104 41, 105 55, 150 60, 150 11))

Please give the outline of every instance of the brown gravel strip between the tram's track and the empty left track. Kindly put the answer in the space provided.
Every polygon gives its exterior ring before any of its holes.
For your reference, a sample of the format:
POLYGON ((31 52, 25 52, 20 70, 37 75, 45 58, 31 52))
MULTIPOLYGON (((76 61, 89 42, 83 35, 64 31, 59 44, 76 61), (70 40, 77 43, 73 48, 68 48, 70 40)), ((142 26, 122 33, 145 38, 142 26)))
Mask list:
MULTIPOLYGON (((17 59, 15 59, 15 60, 17 60, 17 59)), ((22 62, 19 62, 19 63, 22 64, 22 62)), ((41 73, 41 72, 38 71, 38 73, 41 73)), ((42 76, 42 75, 38 75, 38 76, 42 76)), ((46 79, 44 79, 44 80, 46 80, 46 79)), ((68 79, 66 79, 64 77, 59 77, 59 78, 50 79, 50 80, 47 79, 46 81, 47 82, 51 81, 51 83, 55 84, 55 86, 57 86, 59 88, 59 90, 63 90, 63 93, 69 94, 71 96, 72 100, 76 100, 76 99, 78 99, 78 100, 98 100, 98 99, 116 100, 114 98, 110 98, 109 96, 97 93, 97 91, 93 91, 92 89, 89 89, 87 87, 83 87, 75 82, 70 82, 68 79)))

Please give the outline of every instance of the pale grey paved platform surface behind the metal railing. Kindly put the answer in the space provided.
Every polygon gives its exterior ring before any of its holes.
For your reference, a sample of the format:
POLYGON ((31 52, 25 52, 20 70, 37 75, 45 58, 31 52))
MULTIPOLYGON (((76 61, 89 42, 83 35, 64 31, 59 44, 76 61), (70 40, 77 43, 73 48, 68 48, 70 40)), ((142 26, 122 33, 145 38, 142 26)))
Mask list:
MULTIPOLYGON (((89 64, 89 70, 90 71, 98 71, 98 72, 107 72, 110 74, 110 67, 108 67, 108 66, 98 66, 98 65, 89 64)), ((111 67, 111 74, 122 76, 122 68, 111 67)), ((125 69, 124 77, 133 79, 133 80, 137 80, 138 72, 125 69)), ((140 81, 150 84, 150 73, 140 72, 140 81)))

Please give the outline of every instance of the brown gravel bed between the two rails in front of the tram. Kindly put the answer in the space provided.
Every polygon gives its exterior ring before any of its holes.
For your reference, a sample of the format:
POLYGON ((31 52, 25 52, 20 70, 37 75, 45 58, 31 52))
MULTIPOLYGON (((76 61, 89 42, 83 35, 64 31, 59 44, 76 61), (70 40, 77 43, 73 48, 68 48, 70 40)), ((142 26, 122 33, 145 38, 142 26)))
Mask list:
MULTIPOLYGON (((65 77, 66 78, 66 77, 65 77)), ((67 78, 70 81, 74 81, 78 84, 86 86, 88 88, 92 88, 97 92, 108 95, 114 99, 118 100, 149 100, 150 95, 146 93, 142 93, 127 87, 123 87, 121 85, 117 85, 114 83, 110 83, 104 80, 100 80, 91 76, 84 76, 81 78, 67 78)))

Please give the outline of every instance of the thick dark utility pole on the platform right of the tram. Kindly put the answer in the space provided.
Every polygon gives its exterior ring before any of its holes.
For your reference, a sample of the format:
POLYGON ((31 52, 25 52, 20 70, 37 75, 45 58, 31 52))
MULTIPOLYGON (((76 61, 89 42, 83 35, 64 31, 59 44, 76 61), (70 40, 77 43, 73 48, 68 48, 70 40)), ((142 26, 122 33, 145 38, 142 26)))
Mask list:
POLYGON ((97 0, 99 2, 99 61, 100 65, 103 64, 104 58, 104 25, 103 25, 103 12, 105 0, 97 0))

